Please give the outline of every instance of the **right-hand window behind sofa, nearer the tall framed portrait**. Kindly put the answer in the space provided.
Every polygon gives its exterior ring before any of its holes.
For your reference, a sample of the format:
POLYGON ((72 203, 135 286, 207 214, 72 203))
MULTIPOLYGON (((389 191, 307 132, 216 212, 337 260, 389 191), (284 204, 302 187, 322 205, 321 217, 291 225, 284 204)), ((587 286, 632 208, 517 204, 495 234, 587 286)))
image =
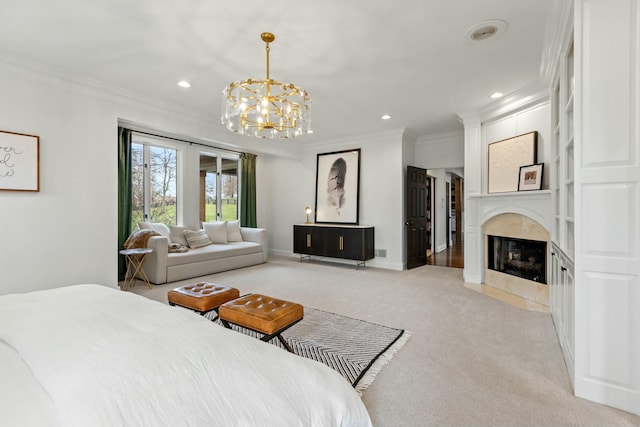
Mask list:
POLYGON ((200 155, 200 221, 238 218, 238 159, 200 155))

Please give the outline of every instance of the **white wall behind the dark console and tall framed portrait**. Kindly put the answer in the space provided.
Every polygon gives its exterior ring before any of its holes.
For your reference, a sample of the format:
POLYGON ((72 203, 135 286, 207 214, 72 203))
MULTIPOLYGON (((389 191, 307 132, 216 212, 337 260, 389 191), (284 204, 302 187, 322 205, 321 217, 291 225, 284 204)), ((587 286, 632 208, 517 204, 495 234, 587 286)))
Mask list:
MULTIPOLYGON (((268 223, 271 250, 293 254, 293 225, 305 221, 305 206, 315 210, 316 159, 318 153, 360 148, 361 225, 375 227, 375 248, 386 249, 367 265, 403 268, 402 170, 403 130, 359 136, 308 146, 301 159, 270 158, 267 179, 271 188, 268 223)), ((312 218, 313 220, 313 215, 312 218)))

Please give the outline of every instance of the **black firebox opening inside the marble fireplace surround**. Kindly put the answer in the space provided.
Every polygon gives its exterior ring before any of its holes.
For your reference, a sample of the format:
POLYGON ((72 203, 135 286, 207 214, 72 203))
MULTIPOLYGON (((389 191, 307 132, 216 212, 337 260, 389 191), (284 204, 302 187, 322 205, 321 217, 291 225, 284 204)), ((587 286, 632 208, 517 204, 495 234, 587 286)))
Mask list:
POLYGON ((547 242, 493 235, 487 238, 487 268, 547 283, 547 242))

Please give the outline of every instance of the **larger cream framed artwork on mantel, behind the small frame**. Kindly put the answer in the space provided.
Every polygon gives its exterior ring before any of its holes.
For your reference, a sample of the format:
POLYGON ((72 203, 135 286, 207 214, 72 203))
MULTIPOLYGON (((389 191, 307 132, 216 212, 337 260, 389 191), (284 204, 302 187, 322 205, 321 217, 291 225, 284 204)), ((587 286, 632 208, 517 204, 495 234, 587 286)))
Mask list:
MULTIPOLYGON (((518 191, 520 167, 537 161, 538 132, 489 144, 489 193, 518 191)), ((542 174, 540 175, 542 177, 542 174)))

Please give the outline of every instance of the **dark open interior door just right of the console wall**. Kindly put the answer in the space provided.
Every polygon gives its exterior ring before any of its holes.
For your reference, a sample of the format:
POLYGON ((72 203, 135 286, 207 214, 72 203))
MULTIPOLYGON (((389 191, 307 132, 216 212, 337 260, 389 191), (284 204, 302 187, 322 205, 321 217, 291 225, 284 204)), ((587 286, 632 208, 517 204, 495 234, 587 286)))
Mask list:
POLYGON ((427 205, 429 177, 426 169, 407 166, 407 268, 427 263, 429 236, 427 230, 427 205))

